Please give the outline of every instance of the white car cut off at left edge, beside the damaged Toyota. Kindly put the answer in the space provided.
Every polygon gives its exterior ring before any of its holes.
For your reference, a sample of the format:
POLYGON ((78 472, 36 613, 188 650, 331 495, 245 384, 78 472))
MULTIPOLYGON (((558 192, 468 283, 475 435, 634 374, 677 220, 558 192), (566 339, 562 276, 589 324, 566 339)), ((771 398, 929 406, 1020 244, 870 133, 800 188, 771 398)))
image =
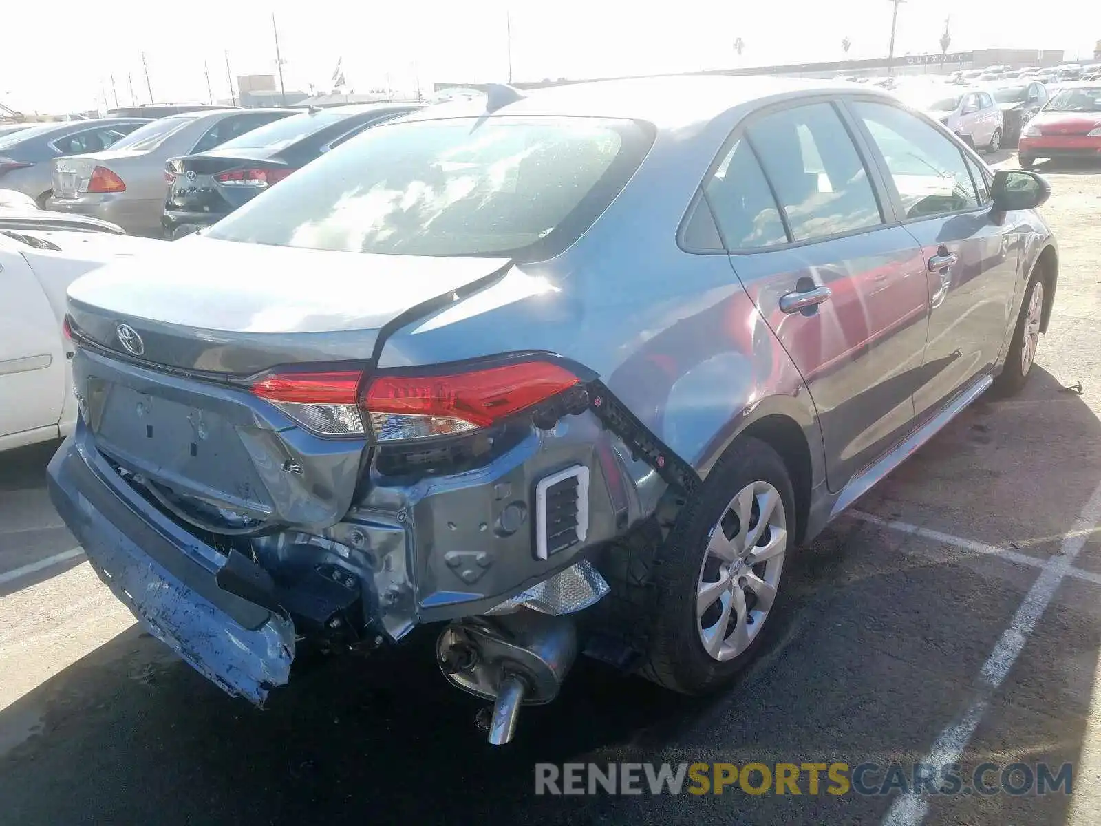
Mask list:
POLYGON ((165 243, 117 232, 103 221, 0 206, 0 452, 73 430, 65 291, 97 267, 165 243))

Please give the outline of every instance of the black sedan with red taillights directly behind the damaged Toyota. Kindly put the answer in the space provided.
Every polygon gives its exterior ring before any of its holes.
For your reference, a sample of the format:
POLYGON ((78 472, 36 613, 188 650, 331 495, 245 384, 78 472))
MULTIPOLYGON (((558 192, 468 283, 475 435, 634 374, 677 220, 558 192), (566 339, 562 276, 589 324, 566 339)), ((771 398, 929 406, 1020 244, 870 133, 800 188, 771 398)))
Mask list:
POLYGON ((161 222, 179 238, 229 215, 315 157, 368 127, 418 109, 415 104, 363 104, 310 109, 165 165, 171 178, 161 222))

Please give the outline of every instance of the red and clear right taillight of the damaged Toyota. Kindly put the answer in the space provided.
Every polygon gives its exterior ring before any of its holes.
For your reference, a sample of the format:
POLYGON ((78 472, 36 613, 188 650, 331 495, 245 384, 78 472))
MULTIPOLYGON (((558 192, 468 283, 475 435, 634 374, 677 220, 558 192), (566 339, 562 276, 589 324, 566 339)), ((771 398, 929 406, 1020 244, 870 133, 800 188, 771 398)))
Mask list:
POLYGON ((385 373, 360 389, 358 371, 273 372, 252 384, 304 427, 323 435, 377 442, 446 436, 488 427, 578 383, 547 361, 423 376, 385 373))

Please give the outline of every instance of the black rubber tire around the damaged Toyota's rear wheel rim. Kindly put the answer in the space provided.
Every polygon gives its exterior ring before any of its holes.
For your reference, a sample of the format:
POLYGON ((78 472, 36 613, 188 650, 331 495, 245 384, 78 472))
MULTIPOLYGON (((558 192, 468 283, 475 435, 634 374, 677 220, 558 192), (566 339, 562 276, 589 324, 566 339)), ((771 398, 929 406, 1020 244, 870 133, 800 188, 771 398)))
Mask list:
MULTIPOLYGON (((713 659, 700 640, 696 609, 711 529, 724 517, 732 497, 755 481, 768 482, 780 492, 786 522, 785 559, 791 563, 796 512, 787 468, 764 442, 742 439, 723 454, 691 501, 682 508, 676 524, 654 556, 653 601, 641 669, 647 680, 682 694, 706 694, 730 683, 760 650, 765 639, 763 627, 733 659, 724 662, 713 659)), ((762 626, 783 608, 783 579, 776 585, 776 598, 762 626)))

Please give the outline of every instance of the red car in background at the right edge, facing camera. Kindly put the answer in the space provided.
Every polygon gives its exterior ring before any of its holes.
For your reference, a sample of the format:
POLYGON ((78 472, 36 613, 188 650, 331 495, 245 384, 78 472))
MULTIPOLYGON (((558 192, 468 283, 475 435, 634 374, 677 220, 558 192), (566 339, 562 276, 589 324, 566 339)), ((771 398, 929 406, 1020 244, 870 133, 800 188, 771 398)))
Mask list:
POLYGON ((1017 151, 1024 170, 1037 157, 1101 160, 1101 83, 1059 89, 1025 127, 1017 151))

